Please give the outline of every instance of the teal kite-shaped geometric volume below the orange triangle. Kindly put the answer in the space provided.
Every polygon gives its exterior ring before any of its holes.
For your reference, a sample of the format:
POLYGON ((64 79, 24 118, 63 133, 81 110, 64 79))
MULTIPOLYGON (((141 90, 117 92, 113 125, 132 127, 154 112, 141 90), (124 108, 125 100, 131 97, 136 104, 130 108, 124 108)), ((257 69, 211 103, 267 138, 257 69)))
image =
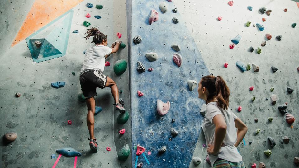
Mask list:
POLYGON ((63 15, 26 38, 34 63, 65 55, 73 13, 73 10, 65 12, 63 15), (34 45, 36 40, 42 43, 40 47, 34 45))

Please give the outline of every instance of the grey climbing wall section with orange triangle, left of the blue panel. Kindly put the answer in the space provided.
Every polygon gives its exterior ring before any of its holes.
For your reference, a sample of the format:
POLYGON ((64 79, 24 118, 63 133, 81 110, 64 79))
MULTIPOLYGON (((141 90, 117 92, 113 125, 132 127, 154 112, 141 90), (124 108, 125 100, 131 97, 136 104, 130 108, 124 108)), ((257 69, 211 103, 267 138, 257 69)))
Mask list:
POLYGON ((3 52, 0 55, 0 97, 4 101, 0 103, 0 131, 2 135, 15 132, 17 139, 8 144, 1 141, 0 167, 131 167, 131 155, 125 161, 119 161, 117 155, 124 145, 129 144, 131 148, 129 69, 119 76, 113 71, 117 60, 128 61, 128 47, 120 49, 106 60, 110 66, 105 67, 104 74, 115 80, 123 91, 120 98, 128 110, 129 120, 119 124, 117 119, 120 113, 112 105, 115 102, 110 89, 97 89, 96 105, 102 107, 102 111, 95 116, 95 136, 99 147, 97 153, 90 151, 87 140, 86 103, 78 100, 83 52, 93 46, 92 37, 87 41, 83 39, 86 32, 83 22, 88 19, 91 23, 88 28, 97 27, 108 35, 109 46, 119 39, 117 32, 122 34, 120 40, 127 44, 126 2, 70 2, 1 1, 0 21, 3 29, 0 47, 3 52), (93 4, 93 7, 87 7, 87 3, 93 4), (97 4, 103 8, 98 9, 97 4), (70 22, 60 20, 61 16, 66 16, 65 13, 71 19, 70 22), (91 17, 87 18, 87 13, 91 17), (101 18, 94 17, 96 15, 101 18), (25 23, 27 21, 31 21, 31 24, 25 23), (31 34, 26 34, 29 30, 31 34), (31 36, 33 32, 37 32, 34 34, 37 36, 31 36), (25 40, 28 37, 47 40, 44 54, 40 52, 42 56, 39 58, 48 57, 45 53, 51 53, 54 49, 57 49, 56 54, 63 53, 63 47, 67 46, 65 54, 34 63, 25 40), (65 82, 64 87, 51 87, 51 83, 57 81, 65 82), (18 92, 20 97, 15 96, 18 92), (69 120, 71 123, 68 123, 69 120), (119 131, 123 128, 126 132, 121 135, 119 131), (59 158, 55 151, 64 147, 72 147, 82 156, 59 158), (111 151, 108 152, 107 147, 111 151), (53 154, 55 158, 51 158, 53 154))

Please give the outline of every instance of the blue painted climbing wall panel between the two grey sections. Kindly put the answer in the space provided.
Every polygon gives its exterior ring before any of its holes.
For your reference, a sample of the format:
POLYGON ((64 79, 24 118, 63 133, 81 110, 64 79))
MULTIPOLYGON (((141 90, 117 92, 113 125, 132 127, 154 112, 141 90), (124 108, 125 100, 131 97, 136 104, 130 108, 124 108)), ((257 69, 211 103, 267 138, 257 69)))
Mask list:
POLYGON ((209 72, 193 35, 187 30, 184 18, 179 11, 173 13, 173 2, 163 1, 168 11, 159 9, 161 1, 132 1, 132 38, 140 35, 142 42, 131 42, 131 107, 132 107, 132 164, 143 162, 144 167, 189 167, 203 116, 199 113, 203 103, 198 98, 197 88, 189 91, 187 81, 199 81, 209 72), (159 20, 149 25, 148 18, 152 9, 159 13, 159 20), (172 18, 179 20, 174 24, 172 18), (171 44, 176 43, 181 51, 176 52, 171 44), (150 62, 145 54, 155 52, 159 59, 150 62), (181 67, 173 62, 173 54, 183 57, 181 67), (137 61, 145 66, 145 72, 139 73, 137 61), (154 68, 152 72, 148 68, 154 68), (138 97, 140 90, 144 96, 138 97), (157 99, 171 103, 169 112, 164 116, 157 113, 157 99), (175 122, 171 122, 175 119, 175 122), (178 131, 172 137, 170 128, 178 131), (137 144, 146 148, 145 155, 136 157, 137 144), (167 147, 167 151, 159 155, 158 149, 167 147), (150 154, 148 152, 150 151, 150 154), (146 161, 145 157, 149 162, 146 161), (136 161, 136 159, 138 160, 136 161), (150 165, 149 165, 150 164, 150 165))

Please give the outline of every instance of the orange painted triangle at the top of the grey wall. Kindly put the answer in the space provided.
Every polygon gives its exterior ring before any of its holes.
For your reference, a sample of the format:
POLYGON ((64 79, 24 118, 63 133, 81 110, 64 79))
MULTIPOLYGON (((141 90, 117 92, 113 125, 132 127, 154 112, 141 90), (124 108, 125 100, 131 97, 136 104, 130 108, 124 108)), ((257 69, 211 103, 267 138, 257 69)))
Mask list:
POLYGON ((26 39, 29 35, 46 26, 82 1, 36 0, 11 46, 26 39))

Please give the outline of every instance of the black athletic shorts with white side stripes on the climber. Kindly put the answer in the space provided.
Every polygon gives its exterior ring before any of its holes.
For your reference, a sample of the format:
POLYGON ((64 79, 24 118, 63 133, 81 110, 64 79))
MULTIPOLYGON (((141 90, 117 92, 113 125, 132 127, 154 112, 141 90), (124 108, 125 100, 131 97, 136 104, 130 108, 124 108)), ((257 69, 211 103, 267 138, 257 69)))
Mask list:
POLYGON ((107 76, 97 70, 88 70, 80 76, 81 90, 85 99, 97 96, 97 87, 106 86, 107 76))

